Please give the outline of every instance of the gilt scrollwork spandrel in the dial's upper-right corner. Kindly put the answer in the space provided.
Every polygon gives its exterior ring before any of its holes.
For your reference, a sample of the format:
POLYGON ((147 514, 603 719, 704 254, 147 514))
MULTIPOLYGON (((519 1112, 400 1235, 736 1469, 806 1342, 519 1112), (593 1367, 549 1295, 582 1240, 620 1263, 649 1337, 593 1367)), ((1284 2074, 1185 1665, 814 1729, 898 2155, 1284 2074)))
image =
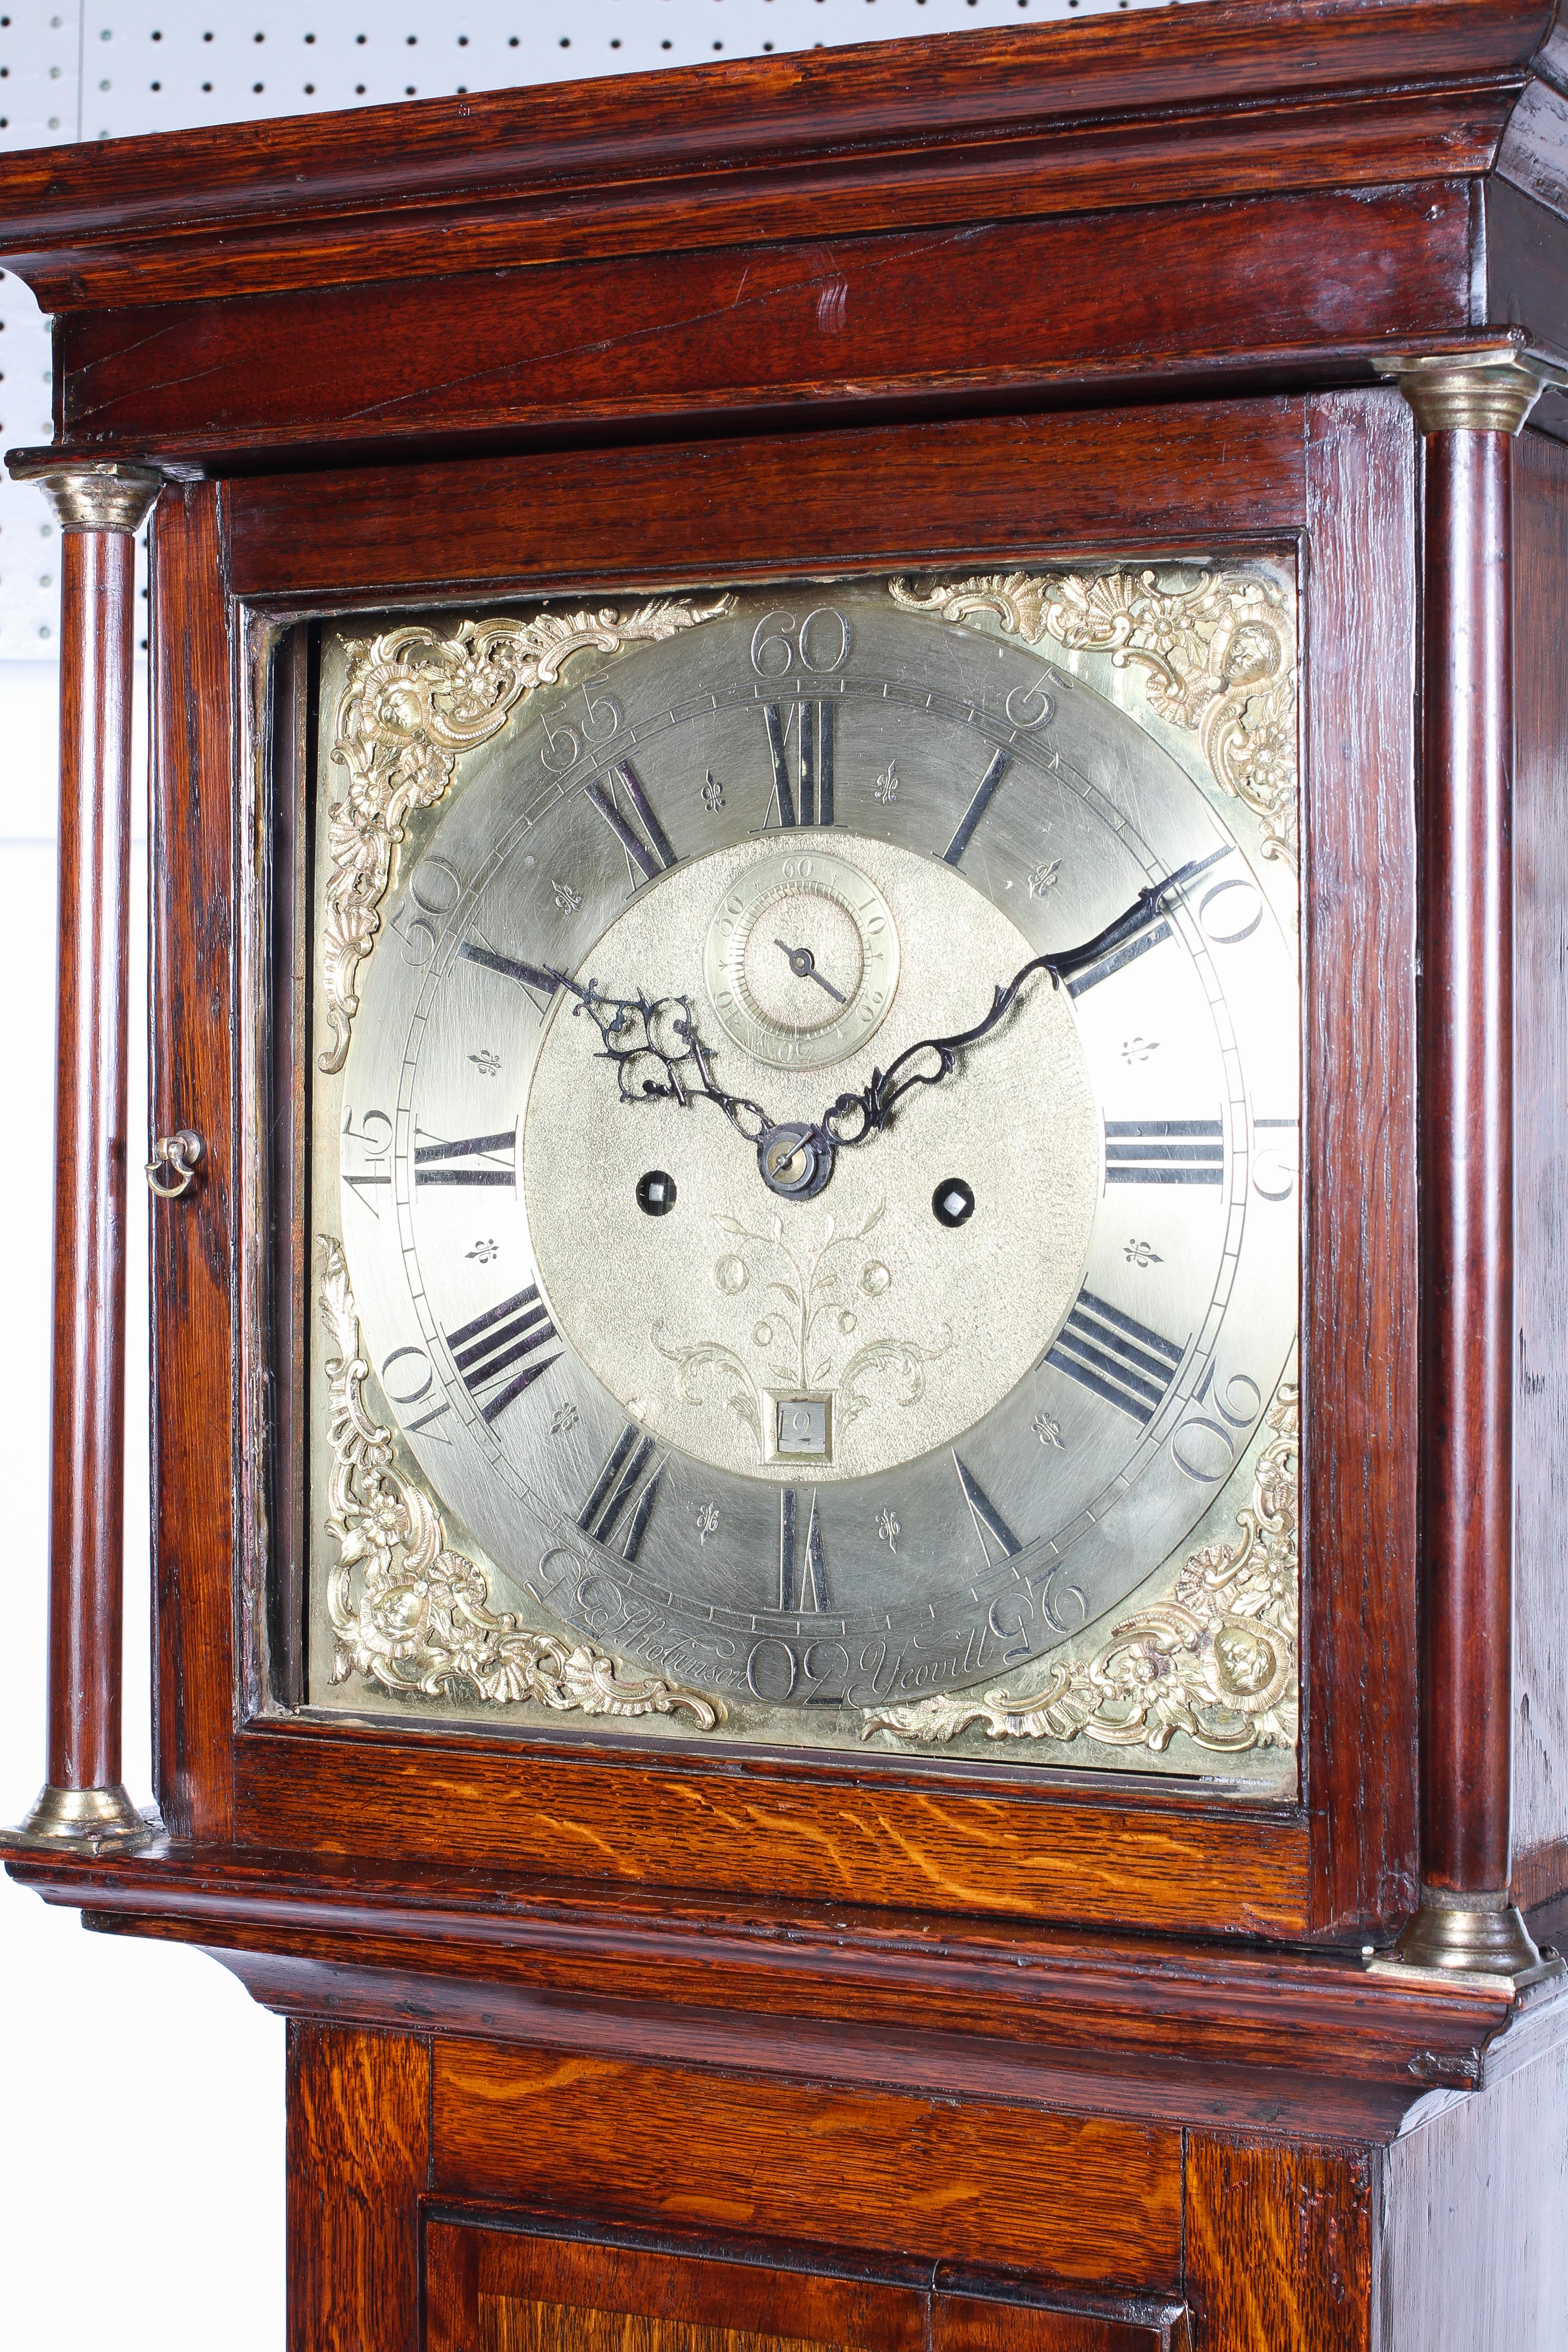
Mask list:
POLYGON ((1220 790, 1262 818, 1262 856, 1295 873, 1295 630, 1281 588, 1239 572, 992 572, 889 586, 910 612, 990 614, 1025 644, 1056 637, 1135 670, 1150 708, 1197 734, 1220 790))

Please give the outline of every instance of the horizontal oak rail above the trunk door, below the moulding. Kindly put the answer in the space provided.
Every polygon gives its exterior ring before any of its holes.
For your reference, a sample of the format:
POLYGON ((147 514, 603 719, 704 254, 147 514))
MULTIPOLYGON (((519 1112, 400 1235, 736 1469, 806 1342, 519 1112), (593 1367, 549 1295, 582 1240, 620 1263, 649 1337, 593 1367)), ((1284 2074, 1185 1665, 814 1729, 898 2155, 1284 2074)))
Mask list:
POLYGON ((501 2044, 435 2046, 435 2190, 1037 2277, 1180 2279, 1180 2133, 501 2044))

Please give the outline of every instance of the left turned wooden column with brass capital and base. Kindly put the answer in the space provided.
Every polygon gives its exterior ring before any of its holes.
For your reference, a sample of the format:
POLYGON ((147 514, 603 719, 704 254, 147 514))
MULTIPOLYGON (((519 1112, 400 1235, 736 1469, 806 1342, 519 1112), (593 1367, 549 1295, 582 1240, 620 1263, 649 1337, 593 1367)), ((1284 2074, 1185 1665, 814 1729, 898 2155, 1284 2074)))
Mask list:
POLYGON ((49 1757, 40 1844, 150 1835, 120 1785, 134 534, 160 475, 9 459, 61 527, 49 1757))

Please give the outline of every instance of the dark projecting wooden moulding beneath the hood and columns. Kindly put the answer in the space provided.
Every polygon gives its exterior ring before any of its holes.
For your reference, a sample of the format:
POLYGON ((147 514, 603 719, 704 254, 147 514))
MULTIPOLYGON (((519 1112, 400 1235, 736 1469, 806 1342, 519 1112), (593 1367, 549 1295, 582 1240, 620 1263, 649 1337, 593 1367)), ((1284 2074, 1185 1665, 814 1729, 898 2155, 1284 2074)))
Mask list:
MULTIPOLYGON (((780 2065, 792 2053, 820 2063, 827 2037, 863 2044, 856 2065, 896 2067, 910 2082, 985 2067, 997 2096, 1013 2060, 1027 2072, 1098 2053, 1121 2067, 1147 2063, 1150 2082, 1171 2060, 1166 2089, 1140 2093, 1161 2114, 1194 2096, 1194 2067, 1206 2084, 1260 2070, 1258 2084, 1232 2082, 1244 2105, 1267 2096, 1269 2070, 1307 2070, 1321 2082, 1319 2110, 1340 2117, 1335 2133, 1366 2136, 1434 2084, 1483 2084, 1509 2018, 1505 1990, 1392 1985, 1354 1955, 792 1905, 771 1889, 722 1900, 505 1870, 172 1846, 115 1865, 24 1856, 12 1867, 47 1898, 82 1903, 94 1926, 221 1952, 284 2011, 418 2016, 489 2039, 555 2039, 611 2004, 630 2056, 649 2051, 646 2034, 686 2032, 672 2011, 696 2037, 682 2042, 689 2056, 733 2049, 733 2034, 771 2016, 766 2042, 778 2037, 780 2065), (922 2077, 919 2065, 936 2072, 922 2077), (1371 2105, 1328 2082, 1373 2086, 1371 2105)), ((604 2023, 597 2037, 609 2032, 604 2023)), ((1225 2105, 1232 2091, 1213 2096, 1225 2105)))

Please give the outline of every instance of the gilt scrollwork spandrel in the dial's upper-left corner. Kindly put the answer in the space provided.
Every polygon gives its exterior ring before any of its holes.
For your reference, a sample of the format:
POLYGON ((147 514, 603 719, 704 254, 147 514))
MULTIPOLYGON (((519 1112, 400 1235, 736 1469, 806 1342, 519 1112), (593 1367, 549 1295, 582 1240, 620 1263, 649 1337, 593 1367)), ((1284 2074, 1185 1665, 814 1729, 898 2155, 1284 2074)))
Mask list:
POLYGON ((461 621, 451 637, 409 626, 346 647, 331 757, 348 769, 348 790, 327 811, 322 955, 331 1044, 322 1070, 341 1070, 348 1058, 360 964, 376 943, 409 816, 444 795, 458 755, 498 734, 536 687, 555 684, 574 654, 658 642, 729 604, 665 597, 628 614, 604 604, 531 621, 461 621))

